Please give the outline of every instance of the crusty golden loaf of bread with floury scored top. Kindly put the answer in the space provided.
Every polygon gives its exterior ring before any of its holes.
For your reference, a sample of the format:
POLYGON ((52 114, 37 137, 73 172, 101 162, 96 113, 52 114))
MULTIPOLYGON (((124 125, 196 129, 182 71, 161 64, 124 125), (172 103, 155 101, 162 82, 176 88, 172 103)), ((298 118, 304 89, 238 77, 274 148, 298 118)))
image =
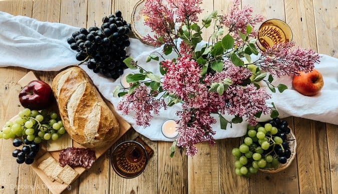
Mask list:
POLYGON ((71 67, 52 84, 60 115, 70 137, 85 147, 102 147, 119 134, 119 122, 86 72, 71 67))

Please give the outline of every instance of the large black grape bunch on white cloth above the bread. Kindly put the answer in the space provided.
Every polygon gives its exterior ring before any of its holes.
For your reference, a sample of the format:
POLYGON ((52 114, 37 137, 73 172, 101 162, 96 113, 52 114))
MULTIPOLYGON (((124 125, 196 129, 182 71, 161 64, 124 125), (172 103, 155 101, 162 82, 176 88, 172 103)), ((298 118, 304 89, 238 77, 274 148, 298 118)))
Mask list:
POLYGON ((130 45, 128 34, 130 24, 122 18, 120 11, 102 19, 101 28, 81 28, 74 32, 67 42, 76 50, 78 61, 88 61, 88 68, 113 79, 119 78, 127 66, 123 63, 130 45))

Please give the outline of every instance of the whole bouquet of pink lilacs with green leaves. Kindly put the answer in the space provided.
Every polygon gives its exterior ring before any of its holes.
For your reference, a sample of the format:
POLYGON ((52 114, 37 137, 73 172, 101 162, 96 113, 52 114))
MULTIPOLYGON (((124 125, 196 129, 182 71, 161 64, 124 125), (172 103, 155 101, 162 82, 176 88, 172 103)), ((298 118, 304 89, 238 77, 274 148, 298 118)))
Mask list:
POLYGON ((182 103, 182 109, 176 112, 180 119, 176 121, 179 135, 174 144, 185 147, 190 156, 197 153, 196 143, 215 143, 211 125, 216 118, 212 114, 219 115, 221 129, 243 119, 255 125, 261 114, 277 117, 273 103, 272 107, 266 104, 270 95, 257 83, 265 83, 272 92, 276 88, 282 92, 287 87, 273 85, 274 76, 309 72, 319 59, 312 50, 293 49, 293 42, 274 45, 264 52, 257 50, 254 26, 263 17, 253 16, 250 7, 240 9, 239 0, 234 0, 227 14, 218 15, 214 11, 199 26, 200 4, 201 0, 167 0, 166 5, 161 0, 146 1, 145 25, 155 35, 147 35, 144 41, 164 45, 163 53, 153 53, 146 60, 162 59, 159 62, 162 75, 149 72, 127 58, 126 65, 139 69, 139 73, 126 77, 129 88, 116 88, 114 92, 123 96, 117 108, 124 114, 134 111, 136 123, 144 127, 149 126, 161 108, 182 103), (213 28, 213 33, 203 44, 201 34, 205 28, 213 28), (201 46, 197 47, 198 44, 201 46), (177 57, 166 59, 172 52, 177 57), (252 55, 257 56, 255 60, 252 55), (225 119, 222 116, 225 113, 233 118, 225 119))

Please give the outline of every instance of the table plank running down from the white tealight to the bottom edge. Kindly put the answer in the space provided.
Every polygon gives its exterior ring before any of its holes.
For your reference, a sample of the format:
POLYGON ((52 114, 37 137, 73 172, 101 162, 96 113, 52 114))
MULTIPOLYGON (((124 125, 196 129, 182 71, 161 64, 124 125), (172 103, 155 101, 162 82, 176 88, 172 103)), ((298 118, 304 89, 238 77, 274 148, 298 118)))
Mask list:
POLYGON ((188 157, 176 150, 170 157, 172 142, 158 142, 158 193, 188 193, 188 157))

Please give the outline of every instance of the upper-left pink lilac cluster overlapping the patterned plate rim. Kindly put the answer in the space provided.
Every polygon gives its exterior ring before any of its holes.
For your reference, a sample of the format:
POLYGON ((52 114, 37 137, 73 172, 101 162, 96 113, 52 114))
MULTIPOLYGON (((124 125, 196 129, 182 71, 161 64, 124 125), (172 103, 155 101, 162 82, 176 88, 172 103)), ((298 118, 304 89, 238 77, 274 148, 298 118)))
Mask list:
POLYGON ((149 26, 152 32, 156 34, 154 37, 148 35, 143 40, 158 46, 161 43, 158 39, 162 37, 162 43, 172 45, 171 32, 175 28, 173 10, 163 5, 161 0, 147 0, 143 14, 148 17, 145 25, 149 26))

